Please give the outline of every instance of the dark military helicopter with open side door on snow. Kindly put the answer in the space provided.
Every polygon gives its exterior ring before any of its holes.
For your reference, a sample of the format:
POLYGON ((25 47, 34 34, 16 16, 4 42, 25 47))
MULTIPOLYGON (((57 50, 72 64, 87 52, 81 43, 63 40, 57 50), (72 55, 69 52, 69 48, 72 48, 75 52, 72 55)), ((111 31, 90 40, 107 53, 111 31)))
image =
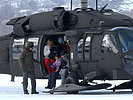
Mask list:
POLYGON ((111 84, 88 86, 93 80, 131 80, 111 88, 133 90, 133 19, 111 9, 87 7, 81 0, 81 8, 65 10, 56 7, 53 11, 11 19, 7 25, 13 32, 0 37, 0 73, 21 76, 18 63, 25 42, 34 43, 36 78, 45 78, 43 50, 48 39, 58 45, 64 37, 70 45, 70 75, 66 84, 50 91, 78 93, 81 90, 105 89, 111 84), (83 80, 81 83, 78 80, 83 80))

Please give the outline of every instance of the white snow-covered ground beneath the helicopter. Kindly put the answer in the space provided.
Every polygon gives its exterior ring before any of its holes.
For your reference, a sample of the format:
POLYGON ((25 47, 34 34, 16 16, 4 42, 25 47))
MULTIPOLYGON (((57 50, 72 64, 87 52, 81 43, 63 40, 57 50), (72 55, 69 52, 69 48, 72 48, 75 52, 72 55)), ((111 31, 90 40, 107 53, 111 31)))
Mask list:
MULTIPOLYGON (((22 92, 22 77, 16 77, 15 82, 10 82, 10 75, 0 74, 0 100, 132 100, 133 93, 131 90, 121 90, 113 93, 107 90, 85 91, 76 95, 66 93, 55 93, 53 95, 42 93, 47 85, 47 80, 37 79, 37 95, 24 95, 22 92)), ((110 81, 111 82, 111 81, 110 81)), ((113 81, 113 85, 117 85, 123 81, 113 81)), ((57 80, 57 86, 60 85, 60 80, 57 80)), ((30 92, 29 80, 29 92, 30 92)))

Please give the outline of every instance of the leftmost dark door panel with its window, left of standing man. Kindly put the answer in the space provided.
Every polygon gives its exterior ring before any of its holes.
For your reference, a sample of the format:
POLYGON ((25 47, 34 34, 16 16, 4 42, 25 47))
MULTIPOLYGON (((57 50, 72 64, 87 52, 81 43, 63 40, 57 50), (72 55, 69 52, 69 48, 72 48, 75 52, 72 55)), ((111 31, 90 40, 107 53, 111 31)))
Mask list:
POLYGON ((22 69, 19 65, 18 59, 23 46, 25 44, 25 37, 13 36, 11 39, 11 49, 10 49, 10 67, 13 75, 22 76, 22 69))

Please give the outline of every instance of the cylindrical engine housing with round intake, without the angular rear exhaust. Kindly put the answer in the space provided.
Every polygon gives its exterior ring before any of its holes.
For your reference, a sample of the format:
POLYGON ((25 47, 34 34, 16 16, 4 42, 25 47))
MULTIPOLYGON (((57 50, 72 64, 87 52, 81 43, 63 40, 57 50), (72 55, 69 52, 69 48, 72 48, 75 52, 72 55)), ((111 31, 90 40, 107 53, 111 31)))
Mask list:
POLYGON ((75 25, 76 23, 75 15, 61 9, 31 16, 29 27, 32 31, 43 31, 48 29, 63 31, 66 27, 75 25), (75 19, 74 21, 72 21, 73 18, 75 19))

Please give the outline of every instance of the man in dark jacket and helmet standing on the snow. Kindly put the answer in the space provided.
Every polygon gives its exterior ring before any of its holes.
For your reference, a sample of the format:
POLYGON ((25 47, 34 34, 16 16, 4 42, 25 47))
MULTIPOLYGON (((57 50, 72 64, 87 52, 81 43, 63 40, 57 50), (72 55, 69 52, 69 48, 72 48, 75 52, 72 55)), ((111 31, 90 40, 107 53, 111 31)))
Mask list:
POLYGON ((36 80, 35 80, 35 72, 34 72, 34 62, 39 63, 38 60, 33 58, 33 48, 34 44, 32 42, 26 42, 23 51, 19 57, 19 63, 22 67, 23 71, 23 91, 24 94, 29 94, 28 87, 28 77, 31 79, 32 90, 31 94, 38 94, 36 91, 36 80))

